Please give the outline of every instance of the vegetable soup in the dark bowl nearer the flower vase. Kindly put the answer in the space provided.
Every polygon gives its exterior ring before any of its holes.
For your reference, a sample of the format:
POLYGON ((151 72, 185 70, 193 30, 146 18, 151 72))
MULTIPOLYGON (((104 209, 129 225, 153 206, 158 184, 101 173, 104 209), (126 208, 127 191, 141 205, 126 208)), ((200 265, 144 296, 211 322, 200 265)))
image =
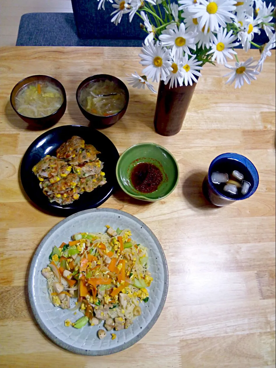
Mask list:
POLYGON ((110 116, 123 109, 125 92, 113 81, 93 81, 82 88, 79 103, 89 113, 110 116))

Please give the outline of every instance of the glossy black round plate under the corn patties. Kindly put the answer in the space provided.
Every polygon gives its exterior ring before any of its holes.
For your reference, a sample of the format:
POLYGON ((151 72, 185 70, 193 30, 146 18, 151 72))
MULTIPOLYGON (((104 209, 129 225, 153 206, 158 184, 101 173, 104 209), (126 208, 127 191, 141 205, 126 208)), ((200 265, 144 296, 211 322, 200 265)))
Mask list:
POLYGON ((20 178, 26 194, 39 208, 54 215, 69 216, 85 209, 96 208, 110 197, 117 185, 116 164, 118 158, 119 153, 116 147, 103 133, 82 125, 64 125, 48 130, 32 142, 23 156, 20 178), (61 206, 57 202, 51 203, 43 194, 39 187, 38 178, 32 172, 32 167, 46 155, 56 156, 57 148, 73 135, 83 138, 86 144, 92 144, 101 152, 97 156, 104 163, 103 171, 105 171, 107 183, 90 193, 84 192, 77 201, 61 206))

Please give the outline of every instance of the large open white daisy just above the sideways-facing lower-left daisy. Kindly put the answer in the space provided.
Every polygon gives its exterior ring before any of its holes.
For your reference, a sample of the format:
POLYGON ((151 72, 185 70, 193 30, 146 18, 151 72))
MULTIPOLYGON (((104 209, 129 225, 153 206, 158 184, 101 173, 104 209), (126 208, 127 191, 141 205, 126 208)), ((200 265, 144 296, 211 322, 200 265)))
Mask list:
POLYGON ((143 45, 141 51, 142 54, 139 54, 142 59, 140 64, 147 66, 143 69, 143 73, 153 82, 159 82, 160 77, 162 81, 165 81, 172 69, 170 50, 159 45, 159 41, 156 41, 155 44, 152 41, 149 45, 143 45))

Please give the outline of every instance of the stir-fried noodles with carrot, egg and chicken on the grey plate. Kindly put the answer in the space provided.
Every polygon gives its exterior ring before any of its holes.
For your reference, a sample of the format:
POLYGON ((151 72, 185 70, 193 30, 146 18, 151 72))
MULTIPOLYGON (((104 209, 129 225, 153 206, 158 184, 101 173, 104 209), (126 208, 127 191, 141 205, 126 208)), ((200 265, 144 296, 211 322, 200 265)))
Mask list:
POLYGON ((146 288, 153 279, 147 270, 147 248, 132 240, 129 229, 106 227, 105 234, 77 233, 68 244, 55 246, 49 266, 42 270, 51 302, 84 314, 75 323, 67 319, 66 326, 82 328, 88 321, 92 326, 104 321, 108 331, 126 329, 141 315, 140 302, 149 300, 146 288), (72 303, 72 298, 77 301, 72 303))

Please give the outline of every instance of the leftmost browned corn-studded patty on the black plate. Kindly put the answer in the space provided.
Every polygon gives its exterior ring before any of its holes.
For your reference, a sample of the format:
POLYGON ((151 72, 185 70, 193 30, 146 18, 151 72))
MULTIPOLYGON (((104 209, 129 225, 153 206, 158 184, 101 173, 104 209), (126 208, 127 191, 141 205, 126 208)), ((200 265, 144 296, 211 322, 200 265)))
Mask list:
POLYGON ((46 156, 33 166, 33 173, 43 182, 44 178, 50 178, 50 183, 56 183, 61 177, 66 177, 72 169, 64 160, 55 156, 46 156))

